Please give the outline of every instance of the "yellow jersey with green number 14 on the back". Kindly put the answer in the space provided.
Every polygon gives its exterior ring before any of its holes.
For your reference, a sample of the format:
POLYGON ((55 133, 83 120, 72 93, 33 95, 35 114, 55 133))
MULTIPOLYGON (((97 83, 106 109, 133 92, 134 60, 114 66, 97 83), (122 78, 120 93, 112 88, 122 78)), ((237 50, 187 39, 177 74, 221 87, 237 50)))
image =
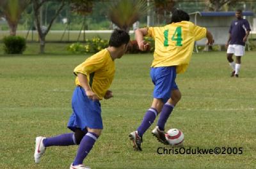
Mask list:
POLYGON ((177 66, 177 73, 186 71, 194 43, 206 36, 206 28, 182 21, 163 27, 148 27, 148 36, 155 40, 152 67, 177 66))

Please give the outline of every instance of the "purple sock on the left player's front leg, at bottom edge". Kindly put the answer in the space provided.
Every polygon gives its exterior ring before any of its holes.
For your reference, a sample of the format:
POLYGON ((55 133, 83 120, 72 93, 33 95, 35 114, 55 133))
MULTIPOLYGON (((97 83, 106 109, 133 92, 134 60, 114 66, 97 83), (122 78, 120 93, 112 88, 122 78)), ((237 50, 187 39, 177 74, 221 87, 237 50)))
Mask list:
POLYGON ((84 158, 86 158, 86 156, 89 154, 97 138, 99 138, 99 136, 97 136, 95 133, 92 133, 92 132, 86 133, 86 135, 83 137, 83 139, 80 142, 73 165, 83 164, 84 158))

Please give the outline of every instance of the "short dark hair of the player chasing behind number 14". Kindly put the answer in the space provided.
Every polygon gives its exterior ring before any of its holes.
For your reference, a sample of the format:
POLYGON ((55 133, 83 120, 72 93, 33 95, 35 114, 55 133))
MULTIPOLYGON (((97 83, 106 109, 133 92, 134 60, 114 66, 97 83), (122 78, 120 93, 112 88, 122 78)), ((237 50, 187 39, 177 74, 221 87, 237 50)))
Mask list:
POLYGON ((110 36, 108 45, 109 47, 120 47, 130 41, 130 36, 127 32, 121 29, 115 29, 110 36))

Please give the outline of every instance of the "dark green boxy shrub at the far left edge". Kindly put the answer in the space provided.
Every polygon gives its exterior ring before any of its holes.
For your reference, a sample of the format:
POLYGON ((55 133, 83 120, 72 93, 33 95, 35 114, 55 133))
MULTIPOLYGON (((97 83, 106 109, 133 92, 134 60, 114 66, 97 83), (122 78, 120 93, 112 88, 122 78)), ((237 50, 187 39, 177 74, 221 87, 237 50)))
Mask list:
POLYGON ((26 40, 20 36, 5 36, 3 43, 6 54, 22 54, 26 49, 26 40))

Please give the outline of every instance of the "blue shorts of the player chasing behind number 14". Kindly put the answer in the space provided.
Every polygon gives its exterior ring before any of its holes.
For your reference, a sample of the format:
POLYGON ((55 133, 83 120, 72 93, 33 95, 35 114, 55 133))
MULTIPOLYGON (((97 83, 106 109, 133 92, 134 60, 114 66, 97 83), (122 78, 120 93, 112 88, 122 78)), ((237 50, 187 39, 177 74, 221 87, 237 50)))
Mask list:
POLYGON ((87 131, 86 127, 92 129, 103 129, 101 108, 99 101, 89 99, 82 87, 77 86, 72 96, 73 113, 68 121, 68 128, 75 131, 80 128, 87 131))

